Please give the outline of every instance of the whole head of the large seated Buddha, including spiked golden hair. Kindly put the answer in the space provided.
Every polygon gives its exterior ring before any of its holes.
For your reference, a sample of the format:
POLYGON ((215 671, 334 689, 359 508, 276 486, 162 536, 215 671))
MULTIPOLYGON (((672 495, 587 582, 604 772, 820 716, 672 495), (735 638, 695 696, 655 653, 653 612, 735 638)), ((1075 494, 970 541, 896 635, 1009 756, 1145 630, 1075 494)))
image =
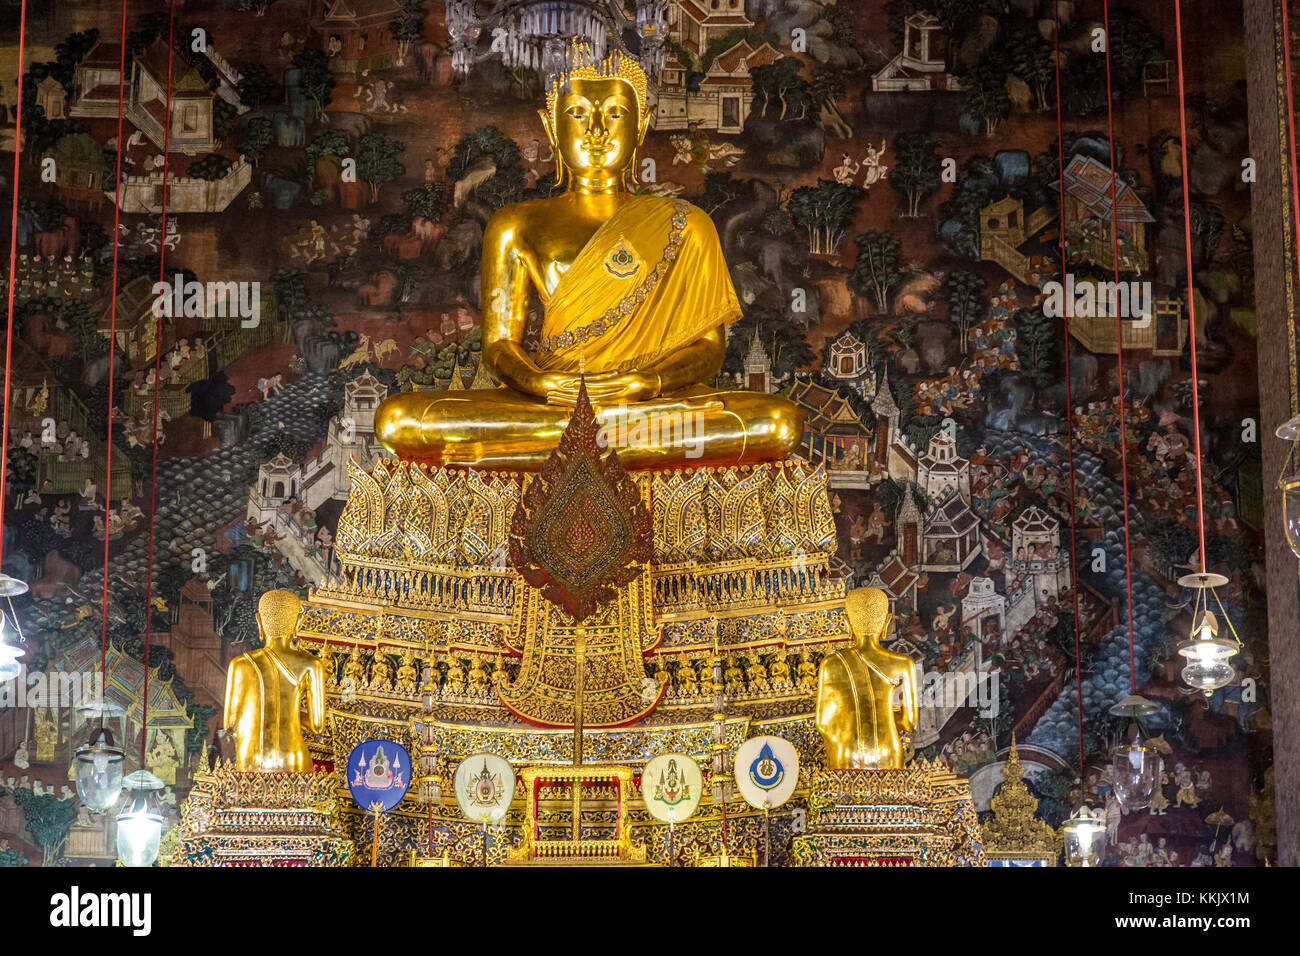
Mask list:
POLYGON ((540 111, 546 137, 572 177, 593 186, 636 173, 637 147, 650 127, 646 74, 629 56, 611 53, 559 77, 540 111))

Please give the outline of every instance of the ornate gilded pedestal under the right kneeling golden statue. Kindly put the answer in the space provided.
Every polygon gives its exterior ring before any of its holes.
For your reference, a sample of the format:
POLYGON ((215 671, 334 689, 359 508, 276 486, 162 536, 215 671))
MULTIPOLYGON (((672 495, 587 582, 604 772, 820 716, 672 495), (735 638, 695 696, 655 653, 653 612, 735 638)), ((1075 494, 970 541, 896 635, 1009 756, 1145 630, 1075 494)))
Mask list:
POLYGON ((965 778, 940 763, 902 770, 823 770, 809 795, 801 866, 984 866, 965 778))

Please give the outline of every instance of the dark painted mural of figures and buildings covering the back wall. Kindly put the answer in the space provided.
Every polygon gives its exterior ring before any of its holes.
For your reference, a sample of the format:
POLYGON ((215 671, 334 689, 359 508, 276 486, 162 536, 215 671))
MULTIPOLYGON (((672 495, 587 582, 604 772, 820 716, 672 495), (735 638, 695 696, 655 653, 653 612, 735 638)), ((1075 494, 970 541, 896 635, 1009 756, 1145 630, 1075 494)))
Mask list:
MULTIPOLYGON (((330 568, 348 458, 382 453, 377 402, 491 382, 484 225, 550 195, 556 168, 541 78, 491 59, 454 77, 436 0, 192 0, 170 48, 166 4, 131 0, 121 134, 117 0, 42 8, 21 90, 17 30, 0 36, 5 151, 23 98, 4 570, 31 583, 14 604, 30 674, 94 671, 107 628, 108 693, 131 708, 148 623, 146 762, 174 805, 225 663, 257 641, 257 597, 330 568), (159 337, 160 258, 183 295, 240 284, 257 320, 231 299, 177 310, 159 337)), ((1049 822, 1106 809, 1112 862, 1258 865, 1274 838, 1242 9, 1197 4, 1184 38, 1186 170, 1173 5, 1115 0, 1109 34, 1101 16, 675 0, 637 189, 715 220, 745 311, 723 378, 806 410, 837 572, 888 591, 892 646, 996 675, 993 706, 946 708, 923 756, 972 775, 987 810, 1014 734, 1049 822), (1067 338, 1048 285, 1117 276, 1143 303, 1121 320, 1122 382, 1115 317, 1071 295, 1067 338), (1205 558, 1244 643, 1242 683, 1209 698, 1175 653, 1197 466, 1205 558), (1161 705, 1165 769, 1150 809, 1122 814, 1106 763, 1126 728, 1106 710, 1130 661, 1161 705)), ((69 779, 83 721, 0 709, 0 865, 110 858, 69 779)))

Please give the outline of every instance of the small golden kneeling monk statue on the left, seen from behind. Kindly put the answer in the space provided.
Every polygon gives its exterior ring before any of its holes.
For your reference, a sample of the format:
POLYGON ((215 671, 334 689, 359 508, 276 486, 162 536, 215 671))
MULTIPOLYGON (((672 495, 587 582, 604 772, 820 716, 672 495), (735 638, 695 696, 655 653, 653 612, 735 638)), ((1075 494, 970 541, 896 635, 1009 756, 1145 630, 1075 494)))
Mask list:
POLYGON ((312 769, 299 711, 306 702, 312 732, 325 730, 325 669, 289 646, 302 613, 291 591, 263 594, 257 630, 264 646, 234 658, 226 671, 222 726, 235 736, 238 770, 312 769))

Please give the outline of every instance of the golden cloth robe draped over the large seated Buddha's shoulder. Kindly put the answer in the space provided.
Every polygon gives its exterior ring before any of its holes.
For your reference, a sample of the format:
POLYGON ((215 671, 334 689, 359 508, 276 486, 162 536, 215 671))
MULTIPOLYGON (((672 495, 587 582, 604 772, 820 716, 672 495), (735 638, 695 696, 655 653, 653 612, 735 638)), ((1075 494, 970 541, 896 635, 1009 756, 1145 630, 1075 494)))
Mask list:
POLYGON ((644 369, 741 316, 708 215, 638 195, 595 230, 546 297, 540 368, 644 369))

